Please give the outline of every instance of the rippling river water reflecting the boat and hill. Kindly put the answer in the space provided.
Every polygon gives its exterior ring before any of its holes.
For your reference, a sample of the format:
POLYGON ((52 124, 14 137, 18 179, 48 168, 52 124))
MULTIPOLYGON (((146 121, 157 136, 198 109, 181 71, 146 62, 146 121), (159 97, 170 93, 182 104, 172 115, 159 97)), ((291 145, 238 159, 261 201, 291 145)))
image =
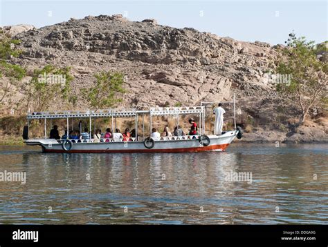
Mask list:
POLYGON ((69 155, 0 146, 0 172, 26 172, 26 184, 0 181, 0 224, 327 224, 327 150, 69 155), (227 181, 230 172, 252 180, 227 181))

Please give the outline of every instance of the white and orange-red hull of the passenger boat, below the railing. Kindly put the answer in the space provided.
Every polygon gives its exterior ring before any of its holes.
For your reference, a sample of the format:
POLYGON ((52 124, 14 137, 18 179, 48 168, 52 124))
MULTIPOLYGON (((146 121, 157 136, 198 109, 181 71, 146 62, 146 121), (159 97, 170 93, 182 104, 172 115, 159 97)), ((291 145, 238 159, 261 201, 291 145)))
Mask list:
POLYGON ((146 148, 143 141, 110 141, 110 142, 81 142, 74 143, 71 150, 64 150, 62 144, 55 139, 28 139, 25 143, 29 146, 42 146, 43 152, 66 153, 92 153, 92 152, 204 152, 210 150, 226 150, 235 139, 238 130, 228 131, 224 135, 209 135, 210 144, 203 146, 198 136, 196 139, 182 137, 155 141, 153 148, 146 148))

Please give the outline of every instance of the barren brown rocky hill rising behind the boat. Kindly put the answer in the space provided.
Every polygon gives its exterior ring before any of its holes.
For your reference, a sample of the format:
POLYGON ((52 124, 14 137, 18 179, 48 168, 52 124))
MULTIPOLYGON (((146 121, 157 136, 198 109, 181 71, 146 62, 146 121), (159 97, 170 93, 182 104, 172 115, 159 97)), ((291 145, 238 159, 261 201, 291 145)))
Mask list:
MULTIPOLYGON (((28 70, 48 63, 71 66, 77 95, 94 81, 95 72, 120 70, 127 76, 128 91, 122 106, 139 102, 190 106, 231 100, 235 93, 241 124, 279 129, 289 116, 277 110, 284 99, 265 77, 275 67, 277 56, 277 46, 268 43, 161 26, 153 19, 129 21, 120 14, 30 28, 15 34, 15 39, 21 40, 24 52, 14 60, 28 70)), ((80 100, 78 106, 85 104, 80 100)), ((60 102, 53 107, 60 107, 60 102)), ((279 131, 273 140, 286 139, 288 130, 279 131)), ((327 139, 327 128, 322 131, 318 139, 321 135, 327 139)), ((265 131, 263 136, 268 138, 265 131)))

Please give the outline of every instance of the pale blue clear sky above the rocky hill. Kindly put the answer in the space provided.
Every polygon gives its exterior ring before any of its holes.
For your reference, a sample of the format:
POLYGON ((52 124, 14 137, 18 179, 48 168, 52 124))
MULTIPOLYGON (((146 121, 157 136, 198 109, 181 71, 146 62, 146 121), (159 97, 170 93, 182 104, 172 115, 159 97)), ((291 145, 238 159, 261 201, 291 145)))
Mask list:
POLYGON ((123 14, 131 21, 156 19, 175 28, 195 28, 241 41, 284 43, 294 30, 321 43, 327 37, 327 0, 289 1, 112 1, 0 0, 0 26, 31 24, 37 28, 88 15, 123 14))

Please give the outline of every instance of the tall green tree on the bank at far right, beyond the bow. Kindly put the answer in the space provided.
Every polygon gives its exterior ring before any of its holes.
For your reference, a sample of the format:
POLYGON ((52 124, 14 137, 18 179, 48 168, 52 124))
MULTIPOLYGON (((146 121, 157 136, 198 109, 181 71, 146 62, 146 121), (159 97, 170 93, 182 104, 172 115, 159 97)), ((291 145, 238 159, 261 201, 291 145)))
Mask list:
POLYGON ((277 72, 291 77, 289 81, 277 83, 277 91, 296 103, 301 112, 298 125, 301 125, 309 109, 327 101, 327 63, 317 58, 314 42, 305 37, 291 33, 286 43, 277 60, 277 72))

